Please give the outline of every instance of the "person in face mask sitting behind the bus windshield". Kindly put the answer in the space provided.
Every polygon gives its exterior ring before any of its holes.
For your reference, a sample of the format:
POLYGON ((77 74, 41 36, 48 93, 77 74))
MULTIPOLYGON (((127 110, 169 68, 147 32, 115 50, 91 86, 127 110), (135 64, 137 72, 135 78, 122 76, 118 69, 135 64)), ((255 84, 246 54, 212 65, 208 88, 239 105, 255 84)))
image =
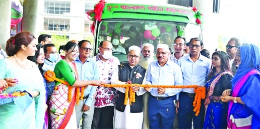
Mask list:
POLYGON ((122 52, 126 54, 125 49, 119 45, 120 43, 120 36, 116 33, 113 33, 111 37, 111 43, 113 45, 113 52, 122 52))

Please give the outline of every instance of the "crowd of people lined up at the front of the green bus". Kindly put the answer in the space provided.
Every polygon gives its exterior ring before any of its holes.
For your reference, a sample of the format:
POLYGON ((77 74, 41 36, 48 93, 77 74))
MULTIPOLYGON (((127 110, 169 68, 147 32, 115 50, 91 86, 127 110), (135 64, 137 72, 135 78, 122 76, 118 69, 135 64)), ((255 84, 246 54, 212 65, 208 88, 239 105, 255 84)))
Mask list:
POLYGON ((0 93, 29 95, 6 103, 1 98, 1 128, 260 128, 259 47, 231 38, 226 52, 210 56, 200 38, 139 47, 134 32, 127 49, 114 34, 92 58, 88 40, 55 46, 50 35, 38 42, 30 32, 12 36, 6 51, 0 47, 7 55, 0 59, 0 93), (127 53, 128 62, 120 63, 115 50, 127 53), (135 102, 125 104, 126 88, 106 84, 137 84, 130 87, 135 102), (196 114, 194 88, 149 85, 203 86, 206 98, 196 114))

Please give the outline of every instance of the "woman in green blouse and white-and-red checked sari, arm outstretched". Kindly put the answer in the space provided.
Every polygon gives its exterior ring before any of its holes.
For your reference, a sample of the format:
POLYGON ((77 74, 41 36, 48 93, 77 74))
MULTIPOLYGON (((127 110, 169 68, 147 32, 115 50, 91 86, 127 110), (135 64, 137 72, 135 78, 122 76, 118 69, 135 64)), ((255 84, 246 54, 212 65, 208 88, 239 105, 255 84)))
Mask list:
POLYGON ((75 104, 75 87, 88 85, 103 86, 105 82, 97 80, 79 81, 77 80, 76 65, 73 61, 79 56, 79 46, 76 43, 68 42, 64 51, 66 56, 60 60, 54 68, 56 78, 68 82, 63 84, 56 82, 53 93, 49 100, 51 128, 77 128, 75 104), (70 101, 70 102, 69 102, 70 101))

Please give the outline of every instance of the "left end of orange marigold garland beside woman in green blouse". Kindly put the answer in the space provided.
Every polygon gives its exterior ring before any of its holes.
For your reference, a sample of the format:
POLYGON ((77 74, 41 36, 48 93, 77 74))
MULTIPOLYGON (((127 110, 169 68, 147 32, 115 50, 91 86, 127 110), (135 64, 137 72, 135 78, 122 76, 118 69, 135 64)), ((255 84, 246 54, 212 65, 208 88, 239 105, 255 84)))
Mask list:
MULTIPOLYGON (((68 90, 68 102, 72 101, 73 87, 67 81, 56 78, 55 73, 53 71, 50 71, 50 70, 48 70, 47 72, 44 73, 44 77, 45 77, 46 81, 48 81, 48 82, 52 82, 52 81, 55 80, 55 81, 60 82, 64 85, 68 85, 68 88, 69 88, 69 90, 68 90)), ((57 87, 55 86, 54 89, 56 90, 57 87)), ((82 100, 83 97, 84 97, 84 95, 82 95, 80 97, 80 92, 81 92, 81 94, 84 94, 84 89, 85 89, 85 87, 82 87, 82 89, 80 91, 80 87, 76 88, 76 102, 77 102, 76 104, 77 105, 79 104, 80 99, 82 100)))

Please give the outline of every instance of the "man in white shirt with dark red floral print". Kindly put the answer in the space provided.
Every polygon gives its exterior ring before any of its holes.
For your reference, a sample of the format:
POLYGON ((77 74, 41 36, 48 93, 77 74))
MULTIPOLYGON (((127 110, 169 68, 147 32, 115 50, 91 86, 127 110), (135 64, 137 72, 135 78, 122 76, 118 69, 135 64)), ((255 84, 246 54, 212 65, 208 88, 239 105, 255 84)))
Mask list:
MULTIPOLYGON (((101 41, 99 53, 93 57, 100 69, 100 80, 110 84, 111 76, 118 67, 119 60, 112 56, 113 46, 109 41, 101 41)), ((115 88, 99 86, 95 97, 95 110, 91 128, 113 128, 114 105, 116 100, 115 88)))

